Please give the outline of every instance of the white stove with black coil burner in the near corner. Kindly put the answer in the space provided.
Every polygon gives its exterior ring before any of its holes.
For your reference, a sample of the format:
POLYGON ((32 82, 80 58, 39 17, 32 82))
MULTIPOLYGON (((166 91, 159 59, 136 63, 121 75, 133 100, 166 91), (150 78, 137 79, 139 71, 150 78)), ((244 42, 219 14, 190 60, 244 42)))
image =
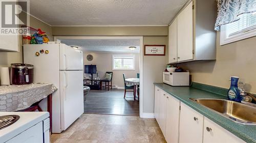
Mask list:
POLYGON ((2 142, 50 142, 49 112, 0 112, 2 142))

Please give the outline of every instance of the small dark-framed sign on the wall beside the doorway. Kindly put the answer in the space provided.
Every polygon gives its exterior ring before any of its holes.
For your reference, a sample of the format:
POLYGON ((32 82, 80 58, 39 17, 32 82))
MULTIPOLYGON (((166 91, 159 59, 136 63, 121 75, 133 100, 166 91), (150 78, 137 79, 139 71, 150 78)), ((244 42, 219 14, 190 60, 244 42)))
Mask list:
POLYGON ((144 55, 165 55, 165 45, 144 45, 144 55))

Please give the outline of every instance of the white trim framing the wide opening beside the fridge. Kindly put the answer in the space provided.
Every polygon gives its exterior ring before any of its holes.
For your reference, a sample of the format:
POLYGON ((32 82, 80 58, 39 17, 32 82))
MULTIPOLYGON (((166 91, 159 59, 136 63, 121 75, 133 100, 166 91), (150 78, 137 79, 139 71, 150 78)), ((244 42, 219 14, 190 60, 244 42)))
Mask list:
POLYGON ((54 36, 59 39, 138 39, 140 40, 140 117, 143 118, 143 36, 54 36))

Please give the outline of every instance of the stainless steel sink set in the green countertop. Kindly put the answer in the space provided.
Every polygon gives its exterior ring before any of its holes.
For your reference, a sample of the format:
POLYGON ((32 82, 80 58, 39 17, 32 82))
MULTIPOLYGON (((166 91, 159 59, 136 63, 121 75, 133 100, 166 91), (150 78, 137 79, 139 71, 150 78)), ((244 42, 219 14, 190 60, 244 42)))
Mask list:
POLYGON ((239 124, 256 125, 256 106, 225 99, 189 99, 239 124))

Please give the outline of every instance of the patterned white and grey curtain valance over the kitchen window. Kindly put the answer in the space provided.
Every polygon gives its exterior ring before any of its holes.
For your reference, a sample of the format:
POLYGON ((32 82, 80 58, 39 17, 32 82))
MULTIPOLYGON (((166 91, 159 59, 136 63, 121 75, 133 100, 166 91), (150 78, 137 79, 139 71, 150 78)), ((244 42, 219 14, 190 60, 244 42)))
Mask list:
POLYGON ((218 16, 215 30, 220 26, 239 20, 239 15, 256 12, 256 0, 217 0, 218 16))

